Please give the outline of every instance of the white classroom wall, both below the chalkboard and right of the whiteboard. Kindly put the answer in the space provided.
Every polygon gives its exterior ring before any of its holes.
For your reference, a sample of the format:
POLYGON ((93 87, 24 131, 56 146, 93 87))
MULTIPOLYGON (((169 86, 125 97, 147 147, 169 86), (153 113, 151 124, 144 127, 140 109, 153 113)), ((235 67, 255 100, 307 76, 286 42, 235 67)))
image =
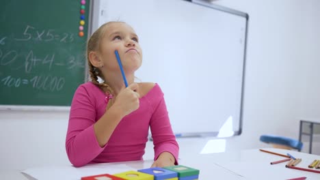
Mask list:
MULTIPOLYGON (((226 151, 266 147, 261 134, 297 138, 300 117, 320 118, 320 2, 221 0, 250 14, 243 134, 226 151)), ((0 111, 0 168, 67 164, 68 111, 0 111)), ((181 142, 181 156, 188 149, 181 142)), ((189 143, 189 142, 188 142, 189 143)), ((200 149, 201 150, 201 149, 200 149)), ((152 157, 148 145, 146 157, 152 157)))

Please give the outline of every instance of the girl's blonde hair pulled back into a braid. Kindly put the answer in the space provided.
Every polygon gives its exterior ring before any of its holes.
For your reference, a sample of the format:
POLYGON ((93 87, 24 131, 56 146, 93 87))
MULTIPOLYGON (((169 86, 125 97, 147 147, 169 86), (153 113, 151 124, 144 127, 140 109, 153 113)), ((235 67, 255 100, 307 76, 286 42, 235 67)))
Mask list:
POLYGON ((89 59, 90 52, 100 50, 101 40, 105 35, 106 27, 111 23, 123 23, 123 22, 110 21, 108 23, 101 25, 101 27, 99 27, 98 29, 96 29, 96 31, 94 31, 94 33, 91 35, 87 43, 87 60, 88 60, 89 73, 90 73, 90 78, 92 83, 98 86, 102 91, 113 95, 114 91, 105 82, 105 77, 103 77, 101 70, 99 70, 98 67, 94 67, 94 65, 92 65, 89 59), (103 80, 103 82, 98 82, 98 77, 100 77, 103 80))

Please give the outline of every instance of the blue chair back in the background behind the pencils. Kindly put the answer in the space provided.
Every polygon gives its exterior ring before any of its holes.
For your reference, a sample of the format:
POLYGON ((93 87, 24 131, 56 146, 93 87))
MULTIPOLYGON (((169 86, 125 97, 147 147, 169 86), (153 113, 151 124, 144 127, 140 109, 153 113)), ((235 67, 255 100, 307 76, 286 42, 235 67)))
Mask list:
POLYGON ((299 142, 299 140, 295 140, 292 138, 286 138, 283 136, 274 136, 274 135, 262 135, 260 136, 260 140, 262 142, 277 144, 277 145, 286 145, 288 147, 291 147, 293 149, 301 150, 304 146, 302 142, 299 142))

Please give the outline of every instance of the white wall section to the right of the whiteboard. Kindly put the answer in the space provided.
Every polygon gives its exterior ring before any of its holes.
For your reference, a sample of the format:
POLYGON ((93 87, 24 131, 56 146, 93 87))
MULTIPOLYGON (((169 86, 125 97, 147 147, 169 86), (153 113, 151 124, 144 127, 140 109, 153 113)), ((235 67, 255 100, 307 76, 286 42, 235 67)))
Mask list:
MULTIPOLYGON (((243 134, 238 143, 263 145, 252 142, 260 134, 297 138, 299 119, 320 118, 319 1, 215 3, 250 14, 243 134)), ((313 152, 320 154, 317 149, 313 152)))

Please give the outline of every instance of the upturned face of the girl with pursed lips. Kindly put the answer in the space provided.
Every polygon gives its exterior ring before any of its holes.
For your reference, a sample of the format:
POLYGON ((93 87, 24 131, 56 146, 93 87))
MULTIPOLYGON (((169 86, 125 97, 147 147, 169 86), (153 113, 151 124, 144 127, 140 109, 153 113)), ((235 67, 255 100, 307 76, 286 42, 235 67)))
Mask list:
POLYGON ((115 50, 118 50, 124 72, 133 73, 142 64, 142 49, 135 31, 126 23, 111 23, 105 27, 101 40, 100 57, 102 71, 120 71, 115 50))

